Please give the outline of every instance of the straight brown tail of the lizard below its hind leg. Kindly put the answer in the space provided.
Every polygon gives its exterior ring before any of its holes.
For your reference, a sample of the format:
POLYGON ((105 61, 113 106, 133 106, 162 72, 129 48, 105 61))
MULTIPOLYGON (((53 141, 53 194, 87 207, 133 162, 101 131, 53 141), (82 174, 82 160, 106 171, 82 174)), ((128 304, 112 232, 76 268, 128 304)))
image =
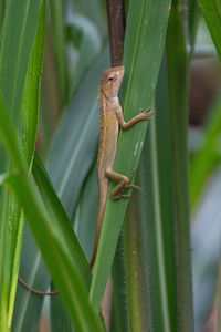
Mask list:
POLYGON ((103 221, 103 216, 104 216, 104 210, 105 210, 105 205, 106 205, 106 195, 99 198, 99 204, 98 204, 98 212, 97 212, 97 222, 96 222, 96 230, 95 230, 95 239, 94 239, 94 247, 92 251, 92 257, 90 260, 90 268, 91 270, 93 269, 95 259, 96 259, 96 253, 97 253, 97 247, 98 247, 98 241, 99 241, 99 235, 102 230, 102 221, 103 221))

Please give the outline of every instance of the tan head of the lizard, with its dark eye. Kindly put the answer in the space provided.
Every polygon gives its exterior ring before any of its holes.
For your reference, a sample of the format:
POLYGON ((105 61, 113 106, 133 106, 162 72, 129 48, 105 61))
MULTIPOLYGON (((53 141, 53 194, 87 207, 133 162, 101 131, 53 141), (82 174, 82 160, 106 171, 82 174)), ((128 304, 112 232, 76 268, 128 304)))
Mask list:
POLYGON ((102 74, 102 90, 106 97, 115 98, 124 76, 124 66, 113 66, 102 74))

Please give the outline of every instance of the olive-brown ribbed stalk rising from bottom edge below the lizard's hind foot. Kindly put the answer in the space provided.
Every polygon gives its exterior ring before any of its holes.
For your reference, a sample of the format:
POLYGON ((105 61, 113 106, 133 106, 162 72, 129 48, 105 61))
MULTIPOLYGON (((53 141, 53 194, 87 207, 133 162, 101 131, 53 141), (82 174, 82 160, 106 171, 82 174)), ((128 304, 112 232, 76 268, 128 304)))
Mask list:
MULTIPOLYGON (((143 152, 146 152, 146 149, 147 148, 144 147, 143 152)), ((135 201, 136 196, 135 194, 131 196, 124 222, 124 252, 129 331, 141 332, 150 330, 148 325, 148 304, 150 300, 146 276, 143 272, 148 263, 148 261, 144 259, 145 238, 143 235, 143 232, 147 230, 143 227, 144 219, 143 222, 140 222, 140 218, 138 218, 140 209, 138 209, 135 201)), ((152 221, 155 222, 156 219, 152 219, 152 221)), ((165 294, 161 294, 161 301, 165 303, 165 294)), ((164 329, 165 331, 169 331, 167 321, 165 321, 164 329)))

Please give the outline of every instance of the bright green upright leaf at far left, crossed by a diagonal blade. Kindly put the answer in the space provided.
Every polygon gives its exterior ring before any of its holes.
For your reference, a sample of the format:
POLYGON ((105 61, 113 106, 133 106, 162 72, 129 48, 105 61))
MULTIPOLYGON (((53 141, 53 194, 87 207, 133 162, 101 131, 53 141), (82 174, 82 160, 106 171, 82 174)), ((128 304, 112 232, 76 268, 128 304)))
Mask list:
MULTIPOLYGON (((44 21, 44 1, 18 3, 9 0, 7 2, 0 50, 0 91, 10 107, 13 122, 17 123, 19 146, 29 164, 32 159, 36 136, 44 21)), ((2 146, 0 146, 0 160, 1 172, 12 168, 2 146)), ((23 218, 14 196, 9 195, 2 188, 0 205, 0 279, 3 278, 0 287, 6 288, 4 302, 0 308, 4 311, 4 307, 7 307, 8 326, 11 326, 23 218)), ((3 297, 1 300, 3 301, 3 297)), ((1 318, 0 321, 2 321, 1 318)))

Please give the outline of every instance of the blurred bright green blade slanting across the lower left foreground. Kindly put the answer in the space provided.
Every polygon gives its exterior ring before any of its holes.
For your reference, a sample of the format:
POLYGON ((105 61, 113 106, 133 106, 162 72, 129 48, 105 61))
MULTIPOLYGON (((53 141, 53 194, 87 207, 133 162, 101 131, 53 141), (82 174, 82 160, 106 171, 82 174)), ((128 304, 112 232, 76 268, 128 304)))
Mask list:
POLYGON ((36 242, 76 329, 78 331, 104 331, 88 301, 88 293, 78 267, 67 255, 64 242, 60 239, 61 235, 57 228, 51 225, 50 215, 44 211, 43 203, 38 201, 36 193, 19 175, 4 178, 4 184, 13 188, 23 206, 36 242), (45 243, 48 243, 46 249, 45 243))

